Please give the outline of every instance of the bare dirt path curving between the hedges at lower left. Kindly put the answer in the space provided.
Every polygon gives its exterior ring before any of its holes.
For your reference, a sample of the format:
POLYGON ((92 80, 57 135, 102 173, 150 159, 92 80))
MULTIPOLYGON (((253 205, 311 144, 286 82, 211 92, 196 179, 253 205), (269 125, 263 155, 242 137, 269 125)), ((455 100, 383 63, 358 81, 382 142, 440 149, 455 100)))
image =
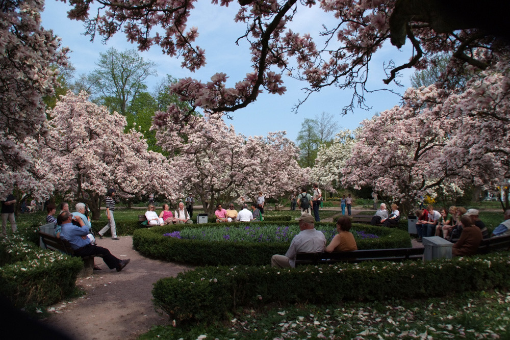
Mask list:
POLYGON ((103 270, 77 280, 87 294, 53 306, 43 322, 80 340, 134 339, 154 325, 169 324, 152 305, 152 283, 192 267, 143 257, 133 249, 129 236, 97 241, 118 258, 131 258, 131 263, 116 272, 96 258, 96 265, 103 270))

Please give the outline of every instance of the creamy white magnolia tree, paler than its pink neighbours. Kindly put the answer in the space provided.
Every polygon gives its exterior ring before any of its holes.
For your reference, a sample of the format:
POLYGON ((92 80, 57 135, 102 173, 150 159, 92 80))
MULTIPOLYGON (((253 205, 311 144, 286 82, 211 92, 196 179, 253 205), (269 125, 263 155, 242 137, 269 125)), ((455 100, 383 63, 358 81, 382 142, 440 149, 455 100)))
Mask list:
POLYGON ((323 144, 319 147, 311 176, 324 189, 332 190, 339 187, 344 176, 342 169, 345 161, 351 156, 355 135, 359 134, 360 130, 360 128, 354 132, 349 129, 342 130, 331 145, 323 144))

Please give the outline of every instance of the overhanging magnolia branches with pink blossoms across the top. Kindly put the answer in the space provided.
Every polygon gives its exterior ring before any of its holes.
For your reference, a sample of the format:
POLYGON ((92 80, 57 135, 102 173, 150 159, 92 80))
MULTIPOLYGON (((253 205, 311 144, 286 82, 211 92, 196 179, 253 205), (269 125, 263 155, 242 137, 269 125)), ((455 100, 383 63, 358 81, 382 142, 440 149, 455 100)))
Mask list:
MULTIPOLYGON (((195 71, 206 63, 206 51, 195 44, 198 28, 187 25, 196 2, 74 0, 69 17, 85 21, 92 36, 97 33, 109 39, 122 32, 140 50, 159 45, 163 53, 181 59, 183 67, 195 71), (93 5, 97 6, 92 10, 93 5)), ((397 80, 402 69, 426 66, 437 53, 451 53, 450 72, 462 72, 463 65, 486 69, 507 49, 507 44, 494 39, 507 32, 502 25, 506 21, 503 13, 510 5, 504 1, 498 1, 497 6, 479 6, 474 0, 212 3, 238 8, 233 20, 244 23, 246 29, 239 32, 236 42, 247 42, 251 67, 234 87, 226 87, 227 75, 222 72, 212 75, 210 82, 187 78, 172 87, 182 100, 211 112, 234 112, 256 100, 261 92, 284 93, 284 74, 307 82, 308 95, 326 86, 350 89, 353 100, 346 110, 356 103, 363 106, 370 61, 387 41, 398 48, 407 42, 413 53, 409 62, 401 65, 386 63, 386 84, 397 80), (317 22, 318 37, 294 32, 291 27, 296 26, 293 21, 298 15, 314 10, 336 20, 329 27, 317 22)))

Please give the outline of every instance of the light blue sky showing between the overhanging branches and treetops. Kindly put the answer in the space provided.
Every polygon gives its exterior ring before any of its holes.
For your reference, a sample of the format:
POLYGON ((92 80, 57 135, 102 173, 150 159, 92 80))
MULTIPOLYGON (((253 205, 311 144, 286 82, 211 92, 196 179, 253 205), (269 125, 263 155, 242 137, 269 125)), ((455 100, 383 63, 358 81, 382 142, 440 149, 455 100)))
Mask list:
MULTIPOLYGON (((212 5, 210 1, 201 0, 192 12, 189 27, 198 27, 199 37, 196 45, 206 49, 207 65, 192 73, 181 68, 181 61, 168 57, 161 52, 158 46, 149 51, 140 53, 145 59, 156 63, 157 77, 151 77, 147 81, 149 90, 164 79, 166 74, 176 78, 192 77, 204 82, 210 80, 216 72, 224 72, 230 78, 227 86, 233 86, 241 80, 246 73, 251 72, 250 57, 247 44, 241 42, 240 46, 235 41, 244 33, 244 24, 235 23, 233 18, 239 5, 232 3, 228 8, 212 5)), ((137 48, 126 41, 123 34, 117 34, 107 44, 103 44, 100 37, 90 42, 90 37, 84 36, 83 23, 69 20, 66 16, 69 5, 56 0, 46 0, 45 10, 42 13, 42 25, 45 29, 52 29, 56 35, 62 38, 62 45, 71 49, 69 60, 76 68, 75 75, 89 73, 95 67, 99 54, 108 48, 115 47, 118 50, 137 48)), ((298 11, 295 20, 290 25, 294 32, 301 34, 311 33, 313 37, 321 29, 321 23, 335 23, 332 16, 321 11, 318 6, 312 9, 298 11)), ((410 86, 409 76, 412 71, 403 72, 400 79, 403 88, 396 86, 388 87, 382 83, 385 74, 382 70, 383 62, 394 59, 396 62, 405 62, 410 54, 399 51, 390 44, 378 51, 372 60, 368 87, 370 90, 389 88, 403 93, 410 86)), ((233 113, 233 120, 226 120, 227 124, 233 124, 236 132, 245 136, 267 135, 268 132, 285 130, 287 136, 294 140, 297 137, 301 123, 305 118, 314 118, 322 112, 334 114, 341 128, 354 129, 359 126, 363 119, 372 117, 375 113, 390 109, 399 102, 399 97, 388 91, 368 93, 367 105, 371 110, 356 109, 353 114, 340 115, 341 109, 350 102, 351 92, 340 91, 335 87, 322 90, 312 96, 299 109, 297 114, 292 112, 294 104, 304 97, 301 89, 306 85, 289 77, 284 78, 287 92, 284 95, 271 95, 262 93, 256 102, 247 108, 233 113)))

